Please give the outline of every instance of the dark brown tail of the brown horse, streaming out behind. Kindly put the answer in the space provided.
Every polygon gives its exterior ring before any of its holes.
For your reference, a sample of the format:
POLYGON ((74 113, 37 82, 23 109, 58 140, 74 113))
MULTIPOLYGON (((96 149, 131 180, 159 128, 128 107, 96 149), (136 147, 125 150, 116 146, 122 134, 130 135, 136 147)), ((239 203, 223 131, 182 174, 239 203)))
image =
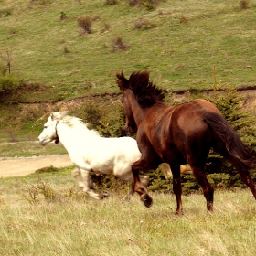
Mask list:
POLYGON ((226 144, 230 155, 239 159, 243 165, 250 169, 256 167, 255 157, 251 155, 250 150, 240 140, 240 136, 222 115, 216 112, 208 112, 204 116, 204 121, 208 123, 213 133, 217 134, 219 139, 226 144))

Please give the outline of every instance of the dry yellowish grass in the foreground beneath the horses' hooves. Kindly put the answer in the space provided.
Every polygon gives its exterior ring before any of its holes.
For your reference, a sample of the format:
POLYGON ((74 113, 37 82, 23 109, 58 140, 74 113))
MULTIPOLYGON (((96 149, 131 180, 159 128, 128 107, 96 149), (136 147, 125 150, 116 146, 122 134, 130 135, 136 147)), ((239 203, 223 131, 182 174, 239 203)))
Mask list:
POLYGON ((102 201, 79 196, 76 187, 71 168, 1 179, 1 255, 256 254, 256 204, 248 190, 217 191, 213 214, 202 194, 184 196, 185 214, 176 216, 173 195, 153 194, 154 205, 144 208, 137 196, 123 201, 128 185, 102 201), (58 196, 30 204, 29 186, 39 180, 58 196))

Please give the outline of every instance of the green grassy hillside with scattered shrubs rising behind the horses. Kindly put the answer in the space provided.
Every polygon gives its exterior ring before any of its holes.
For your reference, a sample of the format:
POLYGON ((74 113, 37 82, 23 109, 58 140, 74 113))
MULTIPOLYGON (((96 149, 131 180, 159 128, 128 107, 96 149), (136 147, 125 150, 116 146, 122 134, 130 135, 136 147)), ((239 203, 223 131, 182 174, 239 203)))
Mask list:
POLYGON ((102 95, 101 106, 111 106, 104 95, 119 92, 114 77, 121 70, 129 76, 149 69, 157 85, 186 91, 210 88, 216 65, 219 80, 255 85, 255 1, 246 9, 237 0, 151 1, 154 8, 107 3, 0 0, 0 62, 9 53, 11 74, 26 84, 1 104, 2 130, 15 126, 15 133, 34 136, 39 129, 31 123, 77 97, 102 95), (91 19, 89 33, 78 25, 84 17, 91 19), (18 104, 35 101, 50 107, 18 104))

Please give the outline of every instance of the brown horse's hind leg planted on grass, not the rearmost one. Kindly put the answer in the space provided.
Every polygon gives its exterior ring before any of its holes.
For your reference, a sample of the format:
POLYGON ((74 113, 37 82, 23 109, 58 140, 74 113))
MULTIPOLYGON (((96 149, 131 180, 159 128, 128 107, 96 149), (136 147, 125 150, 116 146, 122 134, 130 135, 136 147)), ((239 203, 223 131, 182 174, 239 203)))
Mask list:
POLYGON ((207 176, 204 172, 203 167, 194 167, 191 166, 193 174, 197 180, 198 185, 202 188, 204 196, 207 200, 207 209, 208 211, 213 211, 213 194, 214 189, 208 183, 207 176))

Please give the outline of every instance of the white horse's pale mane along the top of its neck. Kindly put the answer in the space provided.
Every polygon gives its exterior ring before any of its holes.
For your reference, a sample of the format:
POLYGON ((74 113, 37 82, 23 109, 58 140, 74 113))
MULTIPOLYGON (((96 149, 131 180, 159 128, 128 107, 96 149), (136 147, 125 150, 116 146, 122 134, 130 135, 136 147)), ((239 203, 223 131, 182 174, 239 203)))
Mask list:
POLYGON ((83 123, 82 120, 75 116, 70 116, 66 112, 59 112, 59 116, 56 117, 59 122, 67 124, 70 128, 75 127, 77 129, 83 130, 87 133, 91 133, 91 135, 100 136, 95 130, 90 130, 88 128, 89 123, 83 123))

